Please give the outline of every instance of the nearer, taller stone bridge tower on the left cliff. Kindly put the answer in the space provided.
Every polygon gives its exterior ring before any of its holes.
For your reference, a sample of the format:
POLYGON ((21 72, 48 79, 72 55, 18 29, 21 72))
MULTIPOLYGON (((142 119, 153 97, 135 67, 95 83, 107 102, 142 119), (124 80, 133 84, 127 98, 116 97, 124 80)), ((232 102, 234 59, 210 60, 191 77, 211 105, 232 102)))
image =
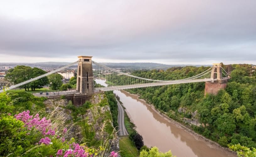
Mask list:
POLYGON ((80 93, 93 93, 92 56, 79 56, 78 58, 76 90, 80 93))

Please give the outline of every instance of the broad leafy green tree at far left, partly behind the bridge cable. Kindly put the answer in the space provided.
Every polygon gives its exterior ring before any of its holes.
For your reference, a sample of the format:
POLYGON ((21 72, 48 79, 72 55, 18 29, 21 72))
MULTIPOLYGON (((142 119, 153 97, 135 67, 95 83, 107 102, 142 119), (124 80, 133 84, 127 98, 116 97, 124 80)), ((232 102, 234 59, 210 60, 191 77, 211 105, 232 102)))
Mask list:
MULTIPOLYGON (((14 84, 19 84, 32 78, 32 68, 25 65, 17 65, 16 67, 8 70, 5 78, 14 84)), ((21 86, 25 91, 30 87, 30 84, 21 86)))

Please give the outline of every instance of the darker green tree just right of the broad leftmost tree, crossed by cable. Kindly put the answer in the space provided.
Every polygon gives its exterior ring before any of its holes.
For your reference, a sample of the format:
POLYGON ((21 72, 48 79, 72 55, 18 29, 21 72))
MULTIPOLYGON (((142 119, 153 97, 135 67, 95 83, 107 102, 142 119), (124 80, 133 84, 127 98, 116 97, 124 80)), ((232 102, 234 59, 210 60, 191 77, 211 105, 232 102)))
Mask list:
MULTIPOLYGON (((43 75, 47 73, 46 71, 39 69, 39 68, 33 68, 32 69, 32 78, 35 78, 37 76, 43 75)), ((49 84, 49 79, 47 77, 43 77, 40 79, 37 79, 30 83, 31 90, 35 90, 36 88, 43 88, 42 86, 49 84)))

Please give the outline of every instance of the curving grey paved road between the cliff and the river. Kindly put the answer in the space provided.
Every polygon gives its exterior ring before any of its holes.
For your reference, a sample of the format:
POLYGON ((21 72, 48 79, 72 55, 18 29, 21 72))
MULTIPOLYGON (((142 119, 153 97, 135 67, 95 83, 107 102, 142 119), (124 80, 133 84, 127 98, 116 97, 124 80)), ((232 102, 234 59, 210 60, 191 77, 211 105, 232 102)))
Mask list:
MULTIPOLYGON (((117 99, 116 99, 117 100, 117 99)), ((118 106, 118 135, 119 136, 124 136, 128 135, 128 132, 124 126, 124 110, 120 102, 117 100, 117 106, 118 106)))

